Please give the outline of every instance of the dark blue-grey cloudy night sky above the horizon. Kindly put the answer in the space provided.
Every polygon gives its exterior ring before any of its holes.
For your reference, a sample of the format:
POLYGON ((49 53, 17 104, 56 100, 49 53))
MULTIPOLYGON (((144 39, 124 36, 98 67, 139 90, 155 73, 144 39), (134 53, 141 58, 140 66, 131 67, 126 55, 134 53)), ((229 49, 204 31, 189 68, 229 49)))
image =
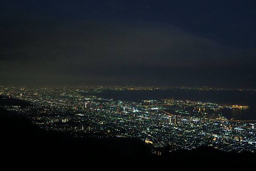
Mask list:
POLYGON ((256 88, 256 0, 1 0, 0 84, 256 88))

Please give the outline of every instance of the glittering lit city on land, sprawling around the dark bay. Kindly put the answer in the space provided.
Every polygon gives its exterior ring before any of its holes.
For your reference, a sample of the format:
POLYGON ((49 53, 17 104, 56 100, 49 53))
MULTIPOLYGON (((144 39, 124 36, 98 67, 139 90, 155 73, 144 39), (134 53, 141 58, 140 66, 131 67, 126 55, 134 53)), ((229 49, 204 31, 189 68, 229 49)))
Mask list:
MULTIPOLYGON (((138 138, 150 144, 155 154, 166 145, 171 146, 170 151, 200 146, 223 151, 256 150, 256 120, 221 116, 223 109, 246 110, 249 106, 178 99, 145 99, 138 103, 97 96, 105 90, 114 93, 138 89, 142 88, 1 87, 0 92, 4 98, 30 104, 4 109, 28 117, 42 129, 71 133, 73 137, 138 138)), ((141 91, 153 89, 145 87, 141 91)))

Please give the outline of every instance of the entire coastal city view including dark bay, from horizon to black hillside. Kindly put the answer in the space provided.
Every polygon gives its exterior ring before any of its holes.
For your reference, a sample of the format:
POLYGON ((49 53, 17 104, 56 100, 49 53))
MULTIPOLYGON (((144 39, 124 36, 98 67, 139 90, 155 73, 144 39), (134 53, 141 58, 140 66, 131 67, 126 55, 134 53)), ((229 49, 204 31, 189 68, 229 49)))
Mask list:
POLYGON ((170 153, 256 149, 255 91, 0 87, 0 92, 4 110, 74 139, 139 139, 158 156, 168 146, 170 153))

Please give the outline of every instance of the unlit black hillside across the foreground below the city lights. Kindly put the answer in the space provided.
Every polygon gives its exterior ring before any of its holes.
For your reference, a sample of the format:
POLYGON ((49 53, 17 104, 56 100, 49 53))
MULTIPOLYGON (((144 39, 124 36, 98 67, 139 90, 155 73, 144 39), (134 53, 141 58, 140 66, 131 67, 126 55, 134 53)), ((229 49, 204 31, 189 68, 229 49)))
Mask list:
MULTIPOLYGON (((237 154, 212 148, 151 154, 147 145, 136 139, 73 139, 70 135, 38 128, 15 113, 0 109, 1 167, 38 170, 58 168, 163 167, 169 164, 251 163, 252 153, 237 154)), ((185 165, 186 166, 186 165, 185 165)))

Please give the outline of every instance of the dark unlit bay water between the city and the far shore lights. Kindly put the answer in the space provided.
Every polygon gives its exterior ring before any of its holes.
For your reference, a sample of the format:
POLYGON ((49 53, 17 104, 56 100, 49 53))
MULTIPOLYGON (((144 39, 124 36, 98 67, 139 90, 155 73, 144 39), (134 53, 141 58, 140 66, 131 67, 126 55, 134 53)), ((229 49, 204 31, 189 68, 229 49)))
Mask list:
POLYGON ((256 119, 256 92, 237 90, 105 90, 101 93, 83 93, 83 96, 94 95, 104 99, 134 101, 142 100, 179 99, 220 104, 248 105, 248 109, 223 109, 222 115, 227 119, 250 120, 256 119))

